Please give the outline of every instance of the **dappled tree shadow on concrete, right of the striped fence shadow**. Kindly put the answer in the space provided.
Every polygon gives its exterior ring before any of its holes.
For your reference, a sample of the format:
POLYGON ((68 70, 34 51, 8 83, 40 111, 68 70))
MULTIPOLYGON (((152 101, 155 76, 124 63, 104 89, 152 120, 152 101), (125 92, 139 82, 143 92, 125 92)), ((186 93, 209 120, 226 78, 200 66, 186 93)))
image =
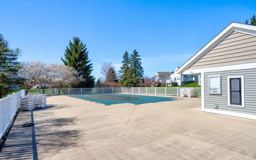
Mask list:
MULTIPOLYGON (((40 112, 43 109, 35 111, 40 112)), ((42 112, 36 114, 36 119, 36 140, 41 153, 58 153, 61 149, 77 146, 81 131, 70 129, 75 125, 76 117, 61 118, 55 117, 52 112, 42 112)))

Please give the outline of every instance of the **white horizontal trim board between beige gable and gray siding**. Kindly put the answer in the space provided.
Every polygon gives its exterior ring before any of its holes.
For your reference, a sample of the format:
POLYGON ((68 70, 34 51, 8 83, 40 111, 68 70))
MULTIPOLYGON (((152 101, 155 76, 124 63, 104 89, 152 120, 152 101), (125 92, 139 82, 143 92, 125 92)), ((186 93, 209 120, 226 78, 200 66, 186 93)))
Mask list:
POLYGON ((230 66, 221 66, 221 67, 210 67, 210 68, 202 68, 202 69, 189 69, 186 70, 183 74, 197 74, 197 73, 207 73, 214 71, 228 71, 228 70, 239 70, 239 69, 251 69, 256 68, 256 63, 244 63, 239 65, 230 65, 230 66))

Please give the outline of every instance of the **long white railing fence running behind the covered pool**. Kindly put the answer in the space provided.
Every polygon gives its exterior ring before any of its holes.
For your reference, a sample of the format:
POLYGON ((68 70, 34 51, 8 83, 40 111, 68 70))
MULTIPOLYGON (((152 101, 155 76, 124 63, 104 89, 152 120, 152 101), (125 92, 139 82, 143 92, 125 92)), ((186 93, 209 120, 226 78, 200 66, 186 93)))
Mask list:
MULTIPOLYGON (((137 93, 157 95, 180 95, 180 89, 185 87, 96 87, 78 89, 30 89, 28 93, 41 93, 47 95, 67 94, 97 94, 97 93, 137 93)), ((201 97, 201 88, 193 87, 193 97, 201 97)))

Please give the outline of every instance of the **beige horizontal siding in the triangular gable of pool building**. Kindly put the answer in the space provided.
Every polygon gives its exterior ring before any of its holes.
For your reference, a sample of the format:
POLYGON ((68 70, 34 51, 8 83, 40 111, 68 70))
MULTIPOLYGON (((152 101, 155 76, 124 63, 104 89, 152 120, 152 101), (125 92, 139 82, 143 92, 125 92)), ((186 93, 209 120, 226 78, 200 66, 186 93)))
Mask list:
POLYGON ((233 32, 189 69, 256 62, 256 36, 233 32))

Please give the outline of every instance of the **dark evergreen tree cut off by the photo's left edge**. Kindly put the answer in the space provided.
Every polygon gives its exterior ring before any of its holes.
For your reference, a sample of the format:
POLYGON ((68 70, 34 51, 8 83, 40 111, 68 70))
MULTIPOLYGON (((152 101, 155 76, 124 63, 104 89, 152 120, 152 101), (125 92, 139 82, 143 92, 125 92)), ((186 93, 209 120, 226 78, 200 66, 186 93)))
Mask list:
POLYGON ((18 84, 20 49, 11 50, 8 42, 0 34, 0 98, 9 93, 11 85, 18 84))

